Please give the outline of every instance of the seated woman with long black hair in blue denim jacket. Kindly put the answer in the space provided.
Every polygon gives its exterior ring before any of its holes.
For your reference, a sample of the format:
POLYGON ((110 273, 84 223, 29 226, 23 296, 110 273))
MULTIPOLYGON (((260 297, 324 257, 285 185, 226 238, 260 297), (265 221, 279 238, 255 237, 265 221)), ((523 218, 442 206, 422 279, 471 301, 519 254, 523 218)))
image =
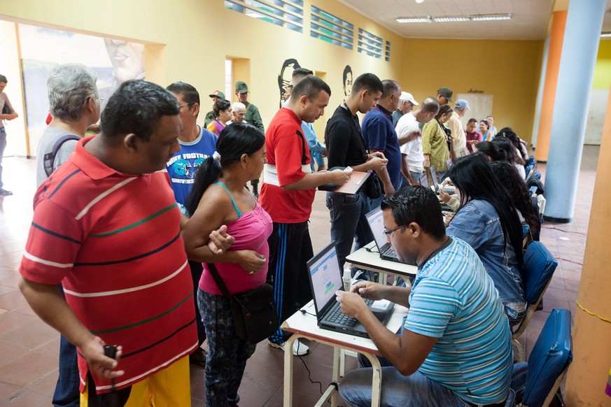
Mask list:
POLYGON ((461 201, 447 234, 469 243, 482 259, 505 306, 510 325, 526 313, 522 269, 522 227, 507 191, 486 155, 458 159, 449 171, 461 201))

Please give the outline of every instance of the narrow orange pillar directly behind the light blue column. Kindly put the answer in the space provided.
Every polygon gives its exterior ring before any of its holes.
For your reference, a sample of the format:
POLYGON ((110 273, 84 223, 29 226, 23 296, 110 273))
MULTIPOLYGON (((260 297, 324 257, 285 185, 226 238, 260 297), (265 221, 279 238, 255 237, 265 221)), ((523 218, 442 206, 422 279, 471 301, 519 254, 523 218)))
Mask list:
POLYGON ((554 115, 556 84, 558 83, 558 71, 560 69, 560 55, 562 54, 566 15, 566 10, 554 11, 552 15, 552 32, 549 34, 547 70, 545 71, 545 85, 543 85, 537 145, 535 147, 535 159, 543 162, 547 162, 549 137, 552 134, 552 117, 554 115))

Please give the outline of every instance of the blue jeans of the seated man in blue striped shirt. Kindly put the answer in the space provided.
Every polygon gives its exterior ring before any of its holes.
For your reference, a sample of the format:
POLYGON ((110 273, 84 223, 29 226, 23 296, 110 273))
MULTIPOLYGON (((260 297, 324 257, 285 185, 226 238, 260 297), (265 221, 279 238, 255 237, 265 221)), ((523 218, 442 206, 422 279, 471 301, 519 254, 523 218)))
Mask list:
MULTIPOLYGON (((364 360, 367 359, 359 355, 359 362, 364 360)), ((447 387, 430 380, 420 371, 403 376, 387 359, 381 357, 379 360, 382 366, 381 407, 470 406, 447 387)), ((372 398, 371 386, 372 369, 356 369, 346 373, 339 383, 339 393, 349 406, 369 407, 372 398)))

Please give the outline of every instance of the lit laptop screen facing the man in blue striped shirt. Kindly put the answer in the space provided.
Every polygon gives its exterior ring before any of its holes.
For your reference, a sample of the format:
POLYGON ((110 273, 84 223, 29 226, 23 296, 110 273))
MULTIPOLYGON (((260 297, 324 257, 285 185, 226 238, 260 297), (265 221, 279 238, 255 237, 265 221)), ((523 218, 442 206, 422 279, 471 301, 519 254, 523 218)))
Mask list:
POLYGON ((316 312, 321 313, 331 299, 335 301, 335 292, 344 290, 335 242, 310 259, 308 268, 316 312))

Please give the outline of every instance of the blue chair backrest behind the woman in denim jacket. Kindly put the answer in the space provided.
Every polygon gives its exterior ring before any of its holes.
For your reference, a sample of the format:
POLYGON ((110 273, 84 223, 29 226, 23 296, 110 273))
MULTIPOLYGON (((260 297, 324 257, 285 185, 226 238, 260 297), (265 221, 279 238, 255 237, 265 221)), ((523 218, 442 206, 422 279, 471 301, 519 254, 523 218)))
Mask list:
POLYGON ((524 253, 522 280, 528 304, 535 304, 552 278, 558 262, 540 241, 533 241, 524 253))

